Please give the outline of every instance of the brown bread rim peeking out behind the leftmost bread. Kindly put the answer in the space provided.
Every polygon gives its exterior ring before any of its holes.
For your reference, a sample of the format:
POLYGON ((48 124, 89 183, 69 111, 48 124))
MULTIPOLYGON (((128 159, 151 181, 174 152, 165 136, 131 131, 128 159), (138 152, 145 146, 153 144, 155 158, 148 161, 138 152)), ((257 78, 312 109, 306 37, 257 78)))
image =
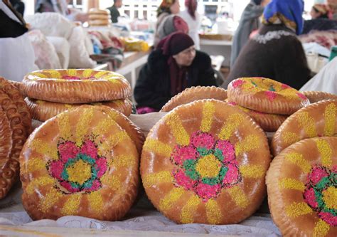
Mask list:
POLYGON ((0 90, 3 90, 9 98, 14 102, 18 109, 18 113, 21 115, 23 126, 26 129, 27 135, 31 133, 31 113, 28 110, 26 102, 20 91, 12 85, 8 80, 0 77, 0 90))

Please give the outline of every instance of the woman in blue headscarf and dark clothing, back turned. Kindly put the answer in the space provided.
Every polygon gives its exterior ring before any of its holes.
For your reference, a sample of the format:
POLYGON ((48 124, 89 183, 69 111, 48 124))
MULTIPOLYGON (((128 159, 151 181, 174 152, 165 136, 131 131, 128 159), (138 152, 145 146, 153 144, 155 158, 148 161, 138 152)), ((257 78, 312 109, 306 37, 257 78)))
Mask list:
POLYGON ((228 84, 241 77, 264 77, 299 89, 311 71, 296 34, 303 29, 301 0, 272 0, 264 9, 263 26, 242 48, 230 70, 228 84))

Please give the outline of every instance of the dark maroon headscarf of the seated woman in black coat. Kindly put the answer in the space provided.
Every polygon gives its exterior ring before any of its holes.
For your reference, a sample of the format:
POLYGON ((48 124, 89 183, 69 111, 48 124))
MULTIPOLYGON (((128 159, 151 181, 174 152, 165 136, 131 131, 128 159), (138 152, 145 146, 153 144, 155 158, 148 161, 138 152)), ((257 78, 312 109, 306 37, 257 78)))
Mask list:
POLYGON ((186 33, 175 32, 163 38, 157 48, 161 48, 164 56, 169 56, 167 63, 171 80, 171 95, 181 93, 187 87, 186 73, 188 68, 179 68, 173 56, 194 45, 193 39, 186 33))

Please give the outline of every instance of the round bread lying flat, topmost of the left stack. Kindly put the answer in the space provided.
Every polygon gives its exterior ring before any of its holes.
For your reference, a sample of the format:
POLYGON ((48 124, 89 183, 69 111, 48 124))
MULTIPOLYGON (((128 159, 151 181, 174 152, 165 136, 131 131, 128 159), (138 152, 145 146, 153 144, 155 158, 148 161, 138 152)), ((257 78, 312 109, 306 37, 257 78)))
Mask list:
POLYGON ((129 98, 131 86, 124 76, 107 70, 39 70, 23 78, 28 98, 80 104, 129 98))

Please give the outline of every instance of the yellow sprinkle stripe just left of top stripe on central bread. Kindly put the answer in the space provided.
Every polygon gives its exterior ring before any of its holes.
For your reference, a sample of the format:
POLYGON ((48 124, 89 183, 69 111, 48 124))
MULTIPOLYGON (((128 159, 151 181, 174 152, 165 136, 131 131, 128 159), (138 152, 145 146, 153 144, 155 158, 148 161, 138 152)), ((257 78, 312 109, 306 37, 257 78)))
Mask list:
POLYGON ((166 124, 169 125, 173 132, 173 136, 176 138, 176 142, 181 146, 187 146, 190 142, 190 135, 186 132, 181 123, 181 119, 176 112, 171 112, 167 119, 166 124))

